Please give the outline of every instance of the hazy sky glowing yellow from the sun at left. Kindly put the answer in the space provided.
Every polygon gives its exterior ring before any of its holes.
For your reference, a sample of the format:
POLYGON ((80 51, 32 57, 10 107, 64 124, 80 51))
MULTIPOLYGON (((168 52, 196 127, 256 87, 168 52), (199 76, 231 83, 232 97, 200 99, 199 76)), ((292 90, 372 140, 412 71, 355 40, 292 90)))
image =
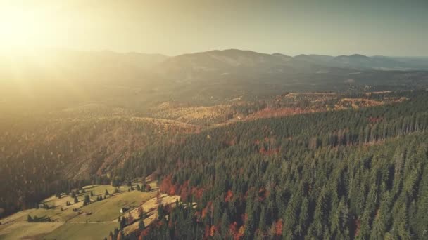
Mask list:
POLYGON ((428 0, 0 0, 0 48, 428 56, 428 0))

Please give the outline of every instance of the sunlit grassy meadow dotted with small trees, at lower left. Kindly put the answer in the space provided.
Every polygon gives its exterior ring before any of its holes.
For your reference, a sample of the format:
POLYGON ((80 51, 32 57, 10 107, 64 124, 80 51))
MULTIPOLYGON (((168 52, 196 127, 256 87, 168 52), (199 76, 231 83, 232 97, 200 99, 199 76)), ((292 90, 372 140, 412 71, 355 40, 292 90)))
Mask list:
MULTIPOLYGON (((118 217, 129 213, 120 213, 120 208, 135 209, 147 201, 156 198, 156 182, 149 183, 151 192, 128 191, 128 186, 91 185, 83 187, 84 193, 77 195, 79 202, 68 194, 61 198, 51 196, 41 202, 49 209, 32 208, 20 211, 0 220, 0 240, 3 239, 103 239, 118 227, 118 217), (115 189, 118 191, 115 192, 115 189), (97 196, 109 195, 105 200, 96 201, 97 196), (92 203, 83 206, 85 195, 92 203), (71 203, 67 206, 67 201, 71 203), (73 208, 76 211, 73 211, 73 208), (51 218, 51 222, 27 222, 27 216, 51 218)), ((141 185, 141 184, 140 184, 141 185)), ((134 184, 134 188, 136 185, 134 184)))

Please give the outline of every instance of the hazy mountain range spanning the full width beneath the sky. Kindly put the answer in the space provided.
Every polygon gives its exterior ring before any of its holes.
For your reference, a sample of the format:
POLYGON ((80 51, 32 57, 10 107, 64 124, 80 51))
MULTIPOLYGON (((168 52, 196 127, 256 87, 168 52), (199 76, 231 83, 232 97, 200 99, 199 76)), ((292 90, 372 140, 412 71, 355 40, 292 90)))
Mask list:
POLYGON ((428 82, 426 71, 428 58, 292 57, 237 49, 172 57, 69 50, 0 55, 0 109, 12 103, 14 110, 32 110, 82 102, 146 109, 168 100, 215 105, 287 91, 413 89, 428 82))

